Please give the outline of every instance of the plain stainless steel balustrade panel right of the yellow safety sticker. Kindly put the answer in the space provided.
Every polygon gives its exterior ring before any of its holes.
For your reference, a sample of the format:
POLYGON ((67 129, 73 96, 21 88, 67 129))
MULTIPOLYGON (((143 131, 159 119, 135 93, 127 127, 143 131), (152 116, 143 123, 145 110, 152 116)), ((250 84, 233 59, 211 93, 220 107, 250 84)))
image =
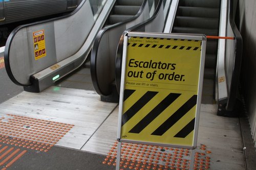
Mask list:
POLYGON ((57 62, 74 55, 94 25, 89 1, 75 15, 54 21, 57 62))

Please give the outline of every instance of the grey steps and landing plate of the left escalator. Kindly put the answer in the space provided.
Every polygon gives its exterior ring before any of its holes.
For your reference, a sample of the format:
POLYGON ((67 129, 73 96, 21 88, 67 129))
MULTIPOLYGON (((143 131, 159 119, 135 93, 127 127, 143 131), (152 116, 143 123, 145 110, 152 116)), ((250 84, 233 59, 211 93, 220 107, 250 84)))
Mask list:
MULTIPOLYGON (((125 22, 133 22, 135 15, 140 15, 146 6, 146 2, 144 0, 140 1, 124 1, 117 0, 114 7, 112 8, 109 17, 106 19, 104 23, 103 30, 109 30, 113 26, 121 26, 124 27, 125 22)), ((147 12, 148 13, 148 12, 147 12)), ((105 32, 105 31, 104 31, 105 32)), ((101 34, 102 30, 99 31, 98 34, 101 34)), ((98 37, 101 37, 97 34, 95 37, 95 42, 99 41, 98 37)), ((118 34, 115 31, 115 37, 118 34)), ((114 36, 110 37, 111 41, 113 41, 114 36)), ((108 45, 108 43, 104 44, 104 47, 108 45)), ((113 45, 113 44, 112 44, 113 45)), ((94 46, 95 43, 94 43, 94 46)), ((98 45, 97 45, 98 46, 98 45)), ((95 54, 93 52, 93 54, 95 54)), ((104 54, 106 55, 106 54, 104 54)), ((91 79, 91 58, 89 57, 86 63, 80 67, 77 71, 74 71, 71 76, 67 76, 64 80, 57 81, 57 86, 59 87, 68 87, 68 88, 78 88, 84 90, 94 90, 93 81, 91 79)), ((102 61, 101 61, 102 62, 102 61)))

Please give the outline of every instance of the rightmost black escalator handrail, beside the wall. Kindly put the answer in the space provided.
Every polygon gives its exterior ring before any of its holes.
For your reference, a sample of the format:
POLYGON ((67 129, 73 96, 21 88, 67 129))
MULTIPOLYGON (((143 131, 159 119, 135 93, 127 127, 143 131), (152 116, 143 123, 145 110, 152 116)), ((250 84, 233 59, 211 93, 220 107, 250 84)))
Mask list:
POLYGON ((243 39, 242 36, 234 22, 234 4, 233 0, 229 0, 229 23, 231 29, 234 34, 235 40, 235 52, 234 52, 234 62, 233 62, 233 71, 232 71, 232 78, 230 89, 228 91, 228 100, 226 110, 232 111, 234 106, 236 105, 236 98, 237 98, 237 89, 239 85, 240 79, 240 70, 241 70, 241 63, 242 63, 242 51, 243 51, 243 39))

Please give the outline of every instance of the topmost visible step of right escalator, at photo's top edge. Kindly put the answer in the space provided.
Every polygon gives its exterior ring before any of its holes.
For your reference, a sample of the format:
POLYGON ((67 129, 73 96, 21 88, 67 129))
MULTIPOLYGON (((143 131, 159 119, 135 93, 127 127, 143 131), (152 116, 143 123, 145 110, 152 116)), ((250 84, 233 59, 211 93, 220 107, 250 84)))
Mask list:
POLYGON ((188 7, 206 7, 206 8, 219 8, 219 0, 181 0, 180 6, 188 7))

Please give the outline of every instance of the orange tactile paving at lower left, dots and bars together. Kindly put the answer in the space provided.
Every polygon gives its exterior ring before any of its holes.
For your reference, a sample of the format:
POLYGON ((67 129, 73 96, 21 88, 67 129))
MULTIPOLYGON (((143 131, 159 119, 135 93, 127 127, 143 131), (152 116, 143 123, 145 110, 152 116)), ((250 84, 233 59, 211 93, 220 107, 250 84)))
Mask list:
POLYGON ((27 149, 48 152, 74 125, 7 114, 0 116, 0 167, 5 170, 27 149), (2 144, 13 145, 13 147, 2 144))

